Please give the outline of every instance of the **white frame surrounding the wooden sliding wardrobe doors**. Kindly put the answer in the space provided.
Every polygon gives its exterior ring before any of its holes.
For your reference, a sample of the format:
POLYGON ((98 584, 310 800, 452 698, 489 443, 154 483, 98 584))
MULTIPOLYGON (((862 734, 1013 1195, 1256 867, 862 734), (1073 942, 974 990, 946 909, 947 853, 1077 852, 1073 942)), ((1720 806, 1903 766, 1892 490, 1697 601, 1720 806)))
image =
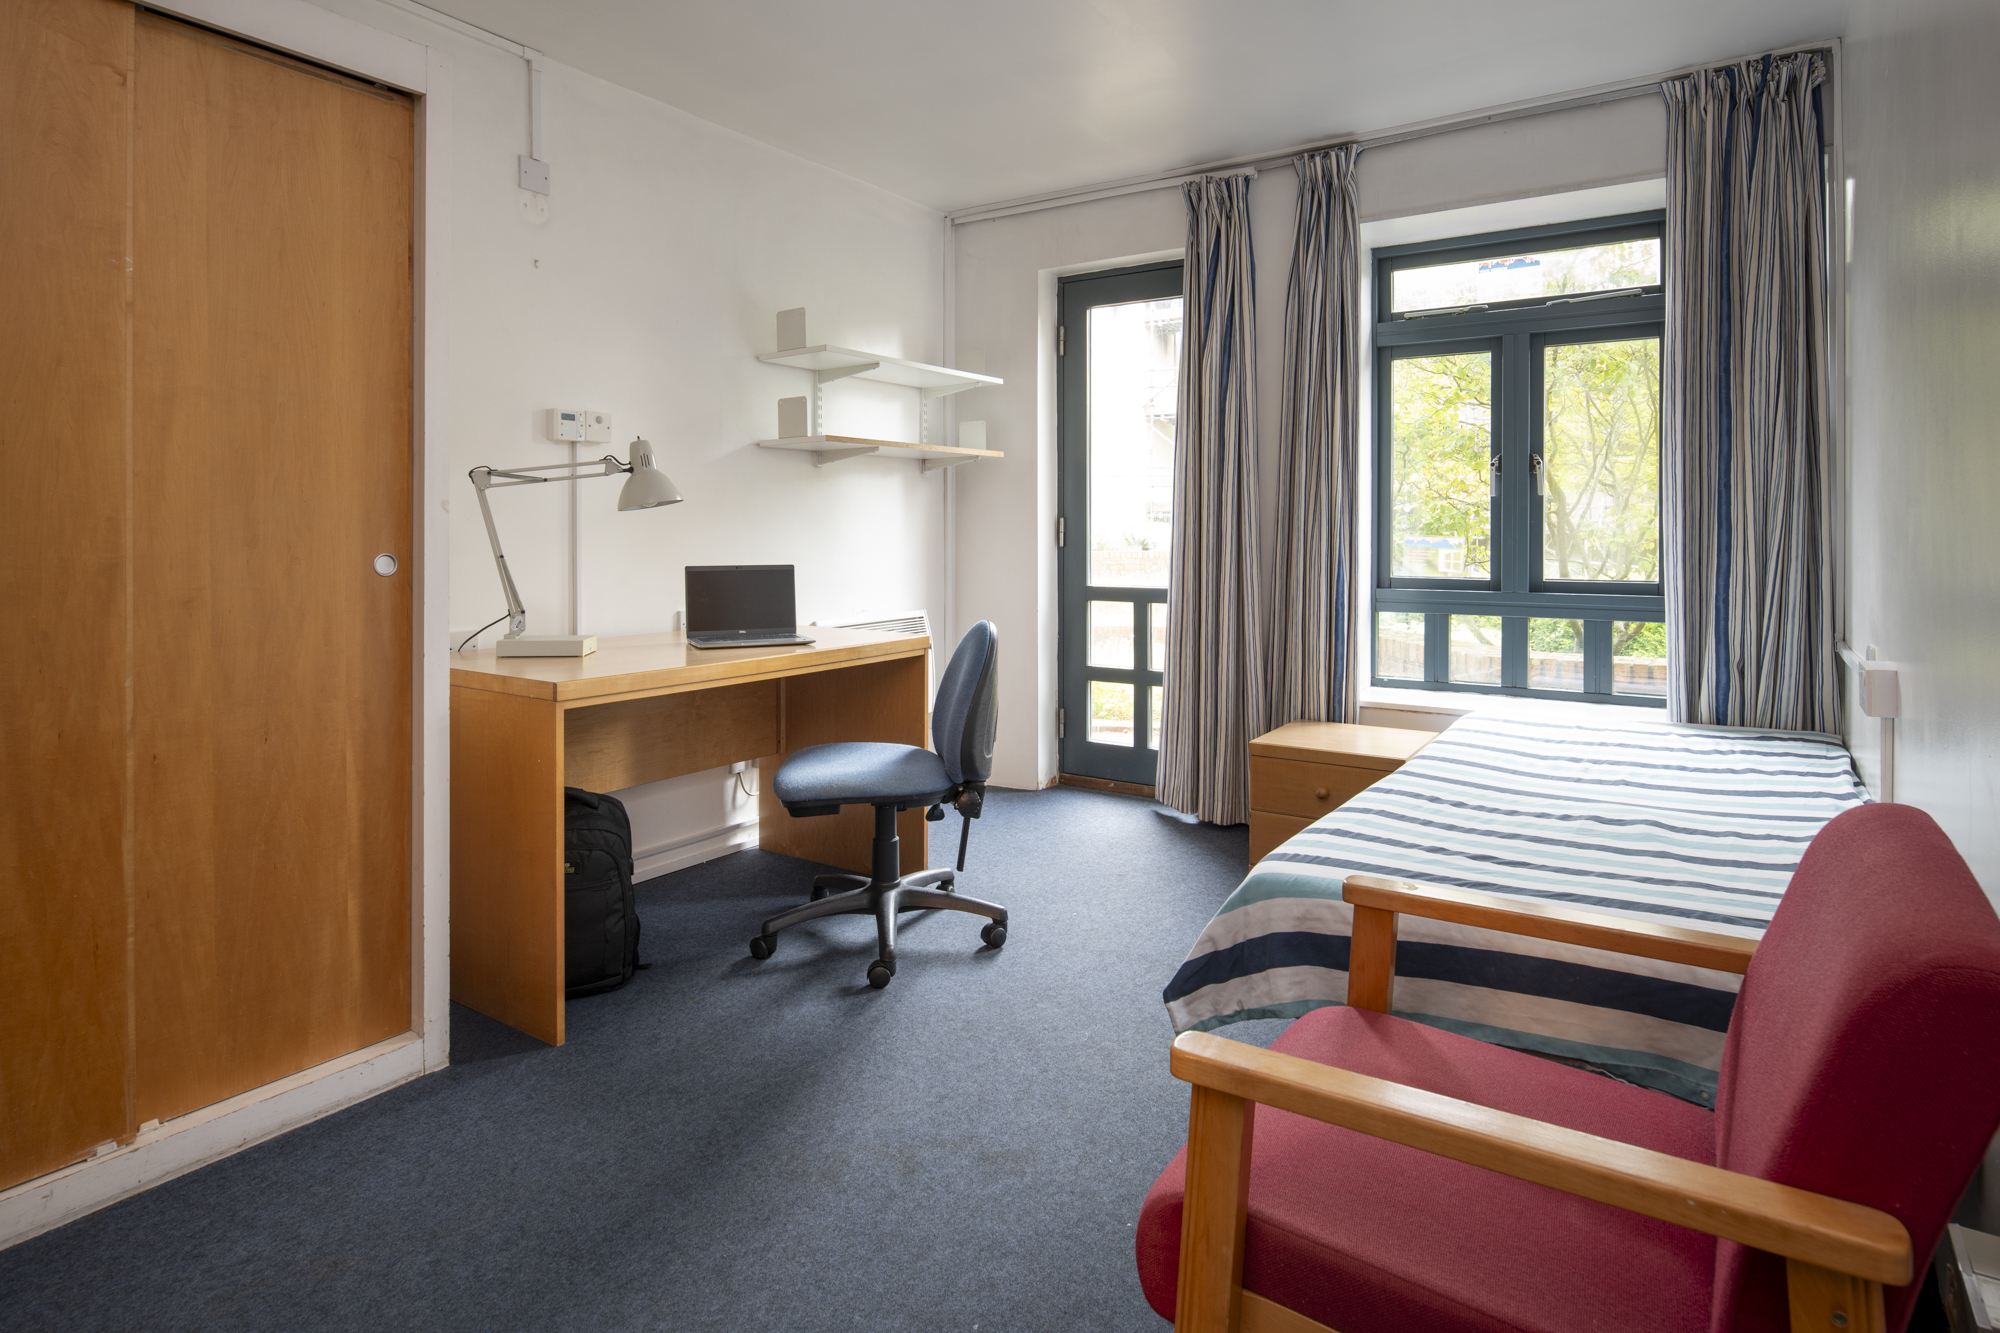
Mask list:
POLYGON ((194 1171, 450 1061, 450 156, 452 58, 304 0, 146 0, 148 8, 416 98, 410 574, 410 1031, 164 1123, 0 1191, 0 1249, 194 1171))

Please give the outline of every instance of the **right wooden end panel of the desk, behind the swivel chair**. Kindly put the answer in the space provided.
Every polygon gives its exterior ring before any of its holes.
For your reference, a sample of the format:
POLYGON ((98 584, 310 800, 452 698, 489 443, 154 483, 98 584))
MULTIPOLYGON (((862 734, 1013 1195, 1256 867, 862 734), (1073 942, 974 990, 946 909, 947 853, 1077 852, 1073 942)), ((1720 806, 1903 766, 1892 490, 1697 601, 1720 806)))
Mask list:
MULTIPOLYGON (((898 656, 888 662, 786 677, 782 685, 778 709, 784 721, 780 733, 784 755, 766 759, 764 777, 758 781, 758 847, 868 875, 874 811, 850 805, 838 815, 792 819, 772 795, 772 779, 780 763, 808 745, 894 741, 928 747, 926 660, 898 656)), ((914 875, 930 863, 930 825, 924 823, 924 811, 898 815, 896 839, 902 843, 904 875, 914 875)))

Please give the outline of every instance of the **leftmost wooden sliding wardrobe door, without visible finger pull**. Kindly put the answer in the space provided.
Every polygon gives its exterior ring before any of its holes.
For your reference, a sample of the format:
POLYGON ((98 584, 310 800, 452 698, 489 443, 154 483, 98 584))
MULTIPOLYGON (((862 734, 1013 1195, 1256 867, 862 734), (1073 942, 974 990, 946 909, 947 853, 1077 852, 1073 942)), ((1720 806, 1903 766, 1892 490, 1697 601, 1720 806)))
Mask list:
POLYGON ((132 1137, 132 6, 0 2, 0 1189, 132 1137))

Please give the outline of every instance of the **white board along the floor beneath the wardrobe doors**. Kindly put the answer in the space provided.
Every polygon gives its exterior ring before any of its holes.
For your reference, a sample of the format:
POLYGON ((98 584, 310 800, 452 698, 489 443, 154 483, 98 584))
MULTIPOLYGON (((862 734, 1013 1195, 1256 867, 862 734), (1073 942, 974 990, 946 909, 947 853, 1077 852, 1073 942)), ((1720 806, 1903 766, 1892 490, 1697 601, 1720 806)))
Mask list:
POLYGON ((0 1191, 0 1249, 276 1139, 424 1073, 424 1039, 402 1033, 290 1079, 238 1093, 140 1133, 122 1149, 0 1191))

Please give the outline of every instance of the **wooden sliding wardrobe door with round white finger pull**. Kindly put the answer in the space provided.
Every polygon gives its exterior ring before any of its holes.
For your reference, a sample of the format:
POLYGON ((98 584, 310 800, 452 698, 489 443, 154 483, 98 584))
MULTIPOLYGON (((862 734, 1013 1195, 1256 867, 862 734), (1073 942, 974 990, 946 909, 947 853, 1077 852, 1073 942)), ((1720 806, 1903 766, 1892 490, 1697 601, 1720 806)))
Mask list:
POLYGON ((410 1029, 414 112, 152 14, 132 106, 144 1123, 410 1029))

